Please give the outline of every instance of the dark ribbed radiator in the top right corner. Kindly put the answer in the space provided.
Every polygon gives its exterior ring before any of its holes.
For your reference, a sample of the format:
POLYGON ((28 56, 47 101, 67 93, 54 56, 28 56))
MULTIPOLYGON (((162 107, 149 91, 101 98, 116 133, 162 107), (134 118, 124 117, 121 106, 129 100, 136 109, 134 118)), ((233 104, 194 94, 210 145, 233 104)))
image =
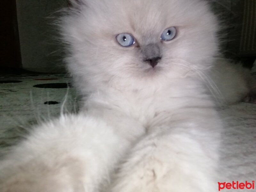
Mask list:
POLYGON ((239 55, 256 56, 256 0, 244 0, 239 55))

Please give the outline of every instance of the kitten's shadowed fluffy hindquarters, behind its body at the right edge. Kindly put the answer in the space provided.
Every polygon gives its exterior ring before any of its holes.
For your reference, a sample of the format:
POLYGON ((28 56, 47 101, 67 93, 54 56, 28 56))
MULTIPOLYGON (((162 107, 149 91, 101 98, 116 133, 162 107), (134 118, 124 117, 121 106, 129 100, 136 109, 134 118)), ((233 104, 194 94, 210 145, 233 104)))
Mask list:
POLYGON ((242 101, 248 94, 256 93, 256 81, 251 76, 249 69, 242 67, 240 63, 230 60, 218 59, 209 71, 212 79, 215 100, 222 106, 242 101))

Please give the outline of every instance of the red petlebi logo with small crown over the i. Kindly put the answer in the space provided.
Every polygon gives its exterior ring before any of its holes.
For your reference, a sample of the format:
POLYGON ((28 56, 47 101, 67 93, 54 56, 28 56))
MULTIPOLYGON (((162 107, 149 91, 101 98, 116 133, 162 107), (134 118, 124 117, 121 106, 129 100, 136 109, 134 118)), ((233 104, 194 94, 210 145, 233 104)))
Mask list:
POLYGON ((240 183, 238 181, 232 181, 232 183, 218 182, 219 191, 221 191, 222 189, 254 189, 254 183, 254 180, 252 182, 245 181, 245 183, 240 183))

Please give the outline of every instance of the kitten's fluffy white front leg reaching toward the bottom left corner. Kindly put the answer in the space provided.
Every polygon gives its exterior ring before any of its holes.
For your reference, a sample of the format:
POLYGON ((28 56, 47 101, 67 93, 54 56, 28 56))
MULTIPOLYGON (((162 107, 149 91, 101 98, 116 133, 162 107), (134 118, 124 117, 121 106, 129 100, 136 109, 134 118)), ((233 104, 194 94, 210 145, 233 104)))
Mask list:
POLYGON ((99 191, 126 149, 144 133, 132 119, 127 123, 120 113, 118 117, 119 123, 110 124, 81 113, 37 126, 0 162, 0 191, 99 191))

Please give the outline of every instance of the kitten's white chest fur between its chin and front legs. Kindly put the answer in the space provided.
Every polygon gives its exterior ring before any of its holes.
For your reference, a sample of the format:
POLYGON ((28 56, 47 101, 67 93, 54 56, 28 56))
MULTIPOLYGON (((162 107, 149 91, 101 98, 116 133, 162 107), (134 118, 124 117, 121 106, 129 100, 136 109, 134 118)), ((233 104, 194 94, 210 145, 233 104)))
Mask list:
POLYGON ((193 78, 170 79, 161 85, 148 84, 141 89, 111 86, 101 93, 93 93, 86 105, 87 108, 108 106, 138 120, 145 127, 161 124, 167 119, 185 118, 191 110, 213 108, 203 84, 193 78))

